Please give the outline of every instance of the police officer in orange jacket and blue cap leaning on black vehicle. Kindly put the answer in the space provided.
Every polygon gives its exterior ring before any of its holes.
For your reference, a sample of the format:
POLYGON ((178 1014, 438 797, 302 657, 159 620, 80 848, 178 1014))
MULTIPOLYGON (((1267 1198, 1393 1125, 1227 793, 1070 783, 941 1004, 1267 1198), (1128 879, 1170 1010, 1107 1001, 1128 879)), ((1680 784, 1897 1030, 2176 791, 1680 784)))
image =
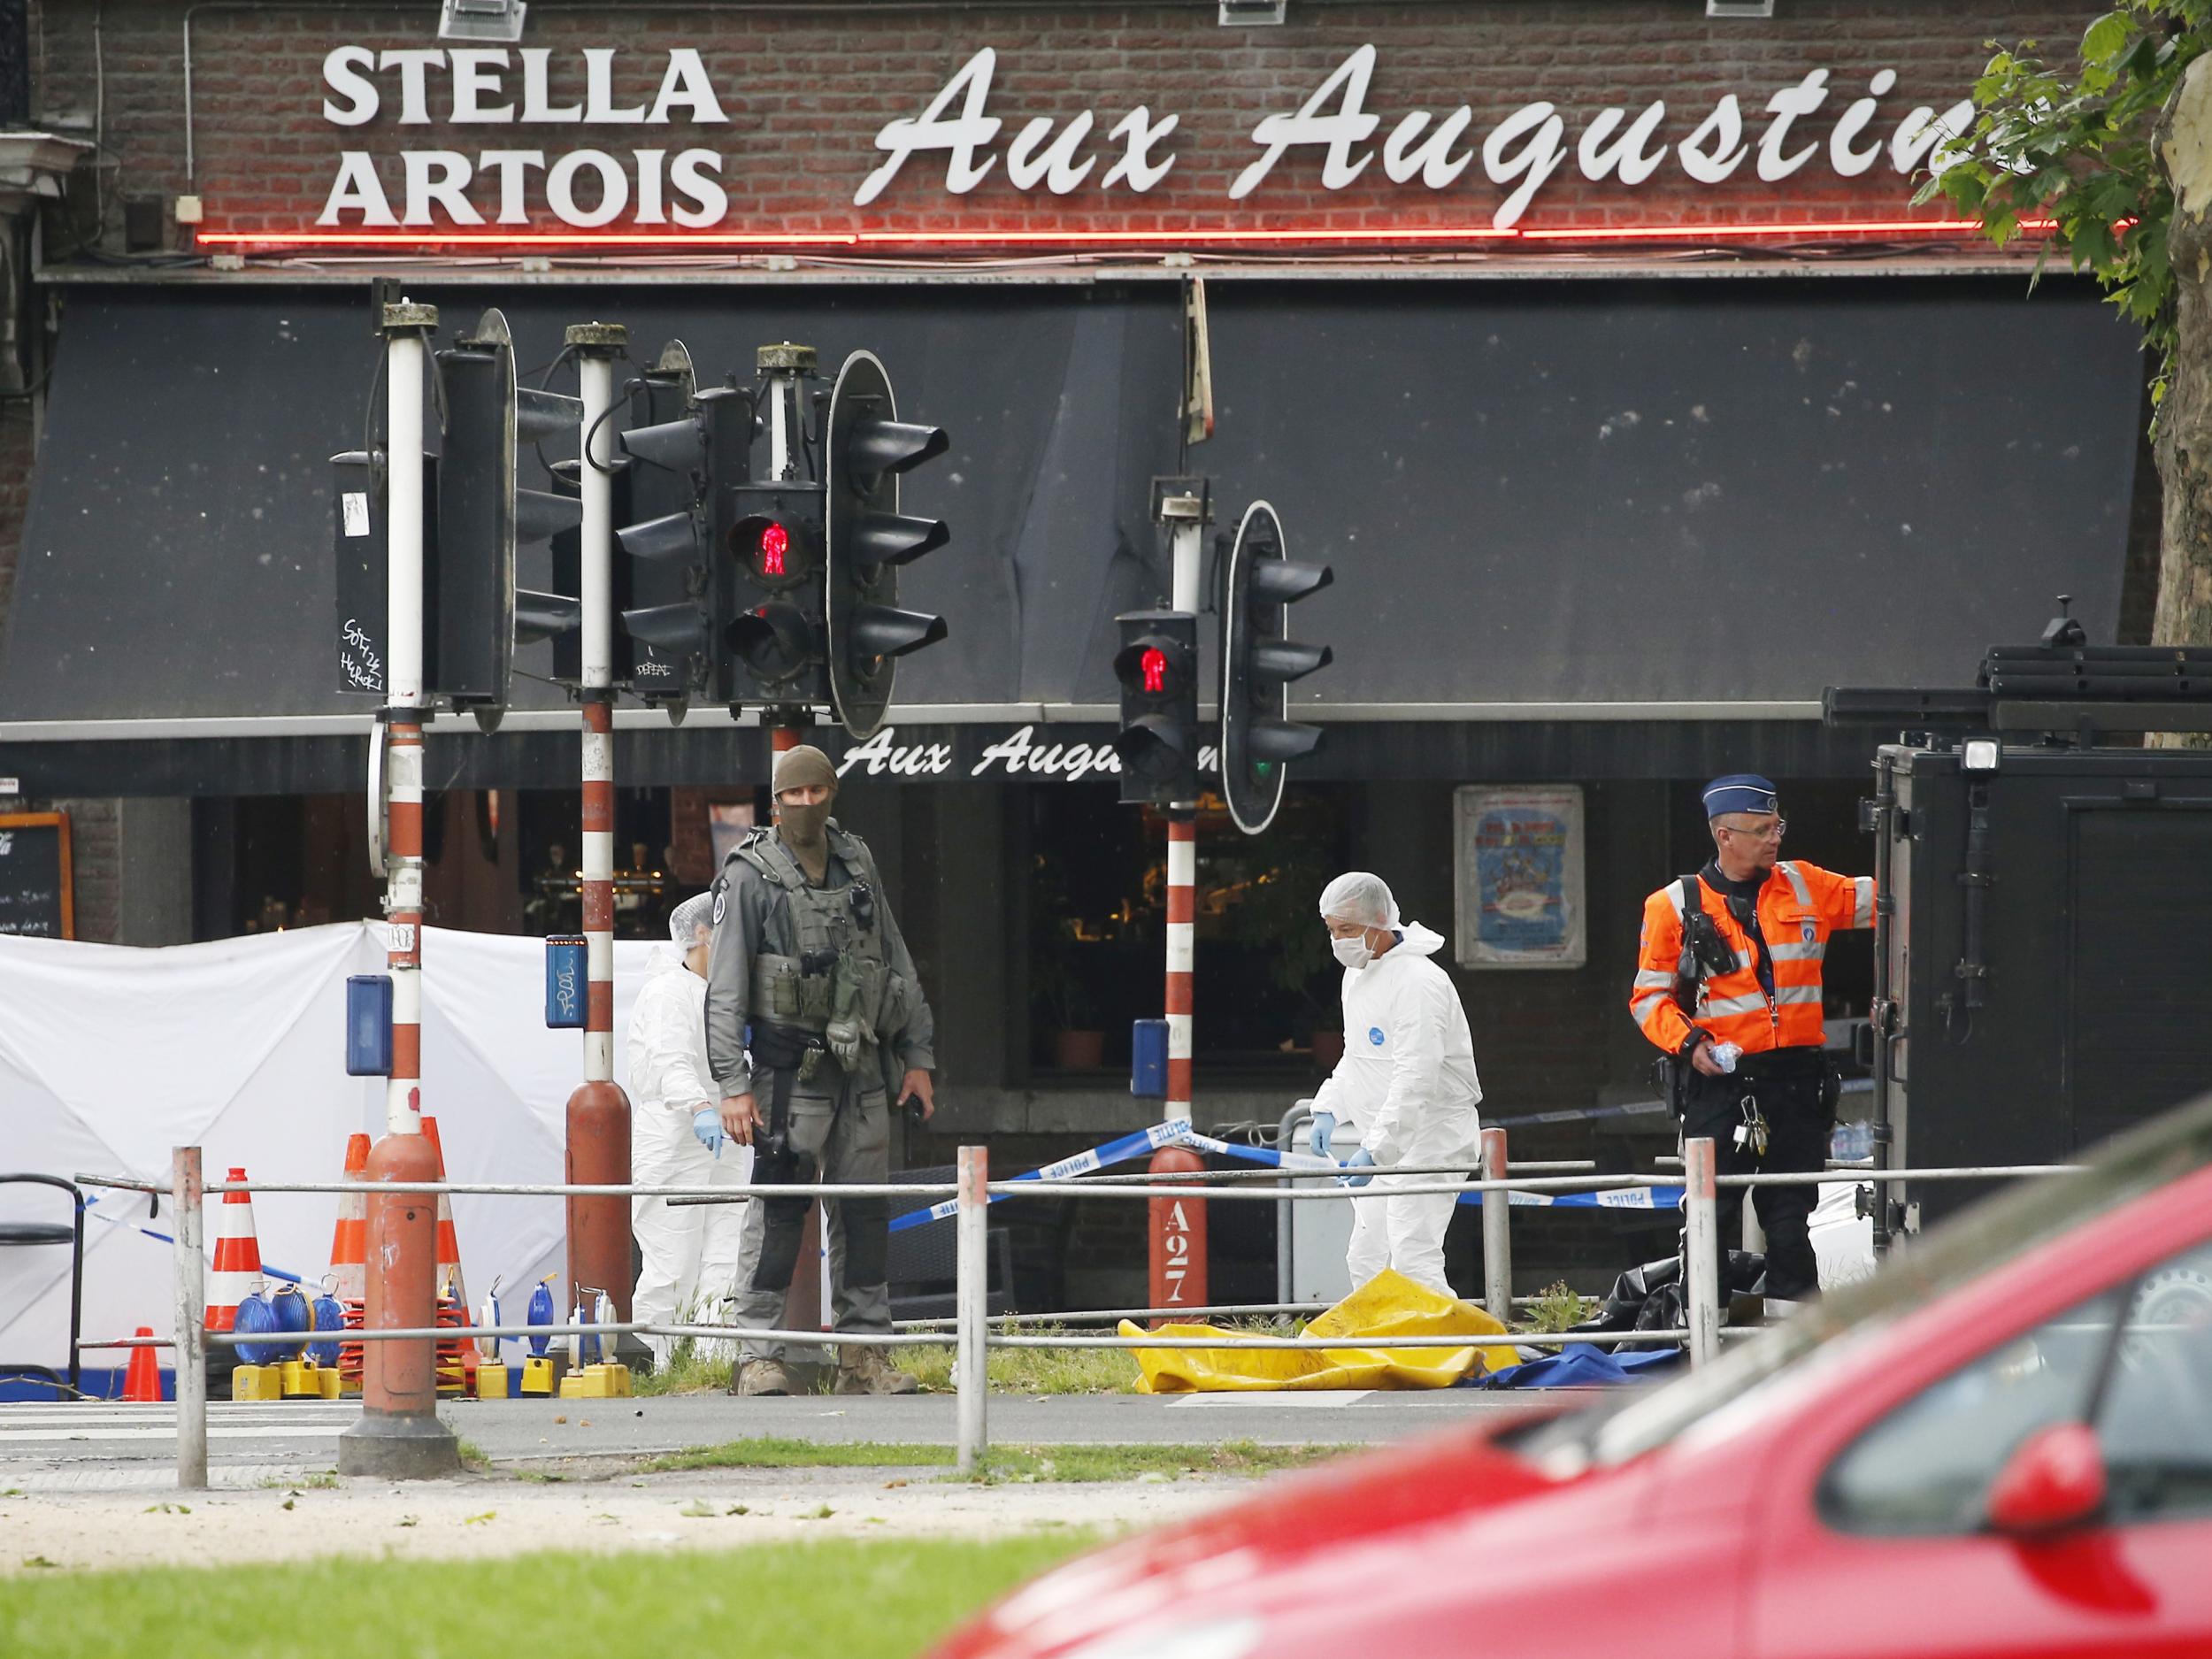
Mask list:
MULTIPOLYGON (((1705 785, 1705 867, 1644 900, 1628 1011, 1672 1060, 1681 1133, 1712 1137, 1721 1175, 1816 1172, 1836 1115, 1820 960, 1838 927, 1874 927, 1874 878, 1776 860, 1787 825, 1774 785, 1750 772, 1705 785)), ((1721 1188, 1723 1252, 1741 1234, 1743 1192, 1721 1188)), ((1767 1296, 1812 1296, 1820 1279, 1805 1221, 1818 1188, 1752 1192, 1767 1234, 1767 1296)))

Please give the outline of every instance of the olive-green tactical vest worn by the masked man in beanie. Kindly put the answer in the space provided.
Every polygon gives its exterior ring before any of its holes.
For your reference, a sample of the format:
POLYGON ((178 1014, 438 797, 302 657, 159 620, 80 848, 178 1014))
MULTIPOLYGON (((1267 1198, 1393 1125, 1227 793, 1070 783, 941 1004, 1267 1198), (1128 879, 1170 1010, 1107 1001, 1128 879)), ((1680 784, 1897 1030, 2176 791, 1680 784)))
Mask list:
POLYGON ((752 958, 745 1015, 754 1024, 792 1026, 823 1035, 845 1015, 860 1024, 867 1048, 894 1040, 911 1018, 914 991, 891 971, 885 949, 883 878, 867 843, 832 823, 830 856, 852 880, 816 887, 772 830, 754 830, 732 854, 763 880, 783 889, 796 936, 796 956, 761 951, 752 958))

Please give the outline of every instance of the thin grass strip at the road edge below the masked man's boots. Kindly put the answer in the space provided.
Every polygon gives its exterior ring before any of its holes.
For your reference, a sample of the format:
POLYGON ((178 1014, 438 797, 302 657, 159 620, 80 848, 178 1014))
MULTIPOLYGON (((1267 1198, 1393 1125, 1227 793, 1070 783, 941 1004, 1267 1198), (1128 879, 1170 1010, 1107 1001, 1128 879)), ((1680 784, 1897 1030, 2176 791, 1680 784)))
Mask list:
MULTIPOLYGON (((1181 1475, 1272 1475, 1281 1469, 1336 1458, 1354 1447, 1263 1447, 1225 1440, 1203 1447, 993 1447, 984 1458, 987 1482, 1097 1482, 1177 1480, 1181 1475)), ((637 1469, 648 1475, 686 1469, 951 1469, 953 1449, 918 1440, 781 1440, 757 1436, 719 1447, 690 1447, 648 1458, 637 1469)))

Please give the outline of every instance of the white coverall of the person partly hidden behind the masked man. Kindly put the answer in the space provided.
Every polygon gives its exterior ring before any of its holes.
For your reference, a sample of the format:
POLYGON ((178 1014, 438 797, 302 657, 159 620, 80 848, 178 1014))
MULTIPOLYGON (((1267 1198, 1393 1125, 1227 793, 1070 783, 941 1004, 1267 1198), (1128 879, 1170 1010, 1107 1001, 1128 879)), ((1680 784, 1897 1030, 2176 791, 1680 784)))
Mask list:
MULTIPOLYGON (((721 1157, 692 1135, 692 1113, 717 1106, 706 1062, 706 980, 659 949, 630 1009, 630 1179, 639 1186, 745 1186, 752 1148, 728 1144, 721 1157)), ((630 1232, 641 1256, 637 1321, 703 1321, 726 1316, 737 1287, 737 1241, 745 1206, 630 1199, 630 1232)), ((655 1367, 675 1347, 648 1336, 655 1367)))

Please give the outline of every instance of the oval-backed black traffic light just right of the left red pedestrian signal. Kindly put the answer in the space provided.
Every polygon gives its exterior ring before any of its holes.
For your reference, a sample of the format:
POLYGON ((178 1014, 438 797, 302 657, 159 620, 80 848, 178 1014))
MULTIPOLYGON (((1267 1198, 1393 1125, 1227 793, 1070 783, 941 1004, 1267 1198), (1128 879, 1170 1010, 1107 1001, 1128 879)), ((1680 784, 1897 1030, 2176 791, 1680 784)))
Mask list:
POLYGON ((898 659, 945 637, 945 617, 898 608, 898 568, 951 540, 940 520, 898 511, 900 473, 942 456, 940 427, 898 418, 874 352, 838 369, 823 420, 823 655, 830 706, 854 739, 874 737, 898 659))

